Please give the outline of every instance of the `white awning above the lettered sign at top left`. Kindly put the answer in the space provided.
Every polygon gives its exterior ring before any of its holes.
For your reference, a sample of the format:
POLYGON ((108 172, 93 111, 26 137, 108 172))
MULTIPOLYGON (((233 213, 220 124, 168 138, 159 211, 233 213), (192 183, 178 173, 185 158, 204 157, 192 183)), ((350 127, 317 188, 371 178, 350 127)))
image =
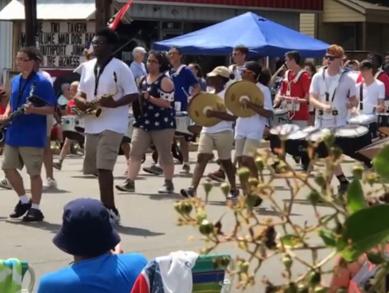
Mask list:
MULTIPOLYGON (((37 0, 38 20, 89 20, 94 0, 37 0)), ((24 20, 23 0, 12 0, 0 11, 1 21, 24 20)))

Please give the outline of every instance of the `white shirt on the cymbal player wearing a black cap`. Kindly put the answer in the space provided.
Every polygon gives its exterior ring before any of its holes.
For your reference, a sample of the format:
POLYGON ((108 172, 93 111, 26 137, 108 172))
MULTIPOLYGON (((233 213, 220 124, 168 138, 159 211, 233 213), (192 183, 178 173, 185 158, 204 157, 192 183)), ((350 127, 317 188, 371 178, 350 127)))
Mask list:
MULTIPOLYGON (((261 83, 257 83, 257 86, 263 93, 263 108, 265 110, 273 111, 272 95, 270 89, 261 83)), ((261 141, 263 137, 263 131, 265 125, 268 123, 268 119, 254 114, 251 117, 239 117, 236 120, 235 125, 235 140, 239 139, 253 139, 261 141)))

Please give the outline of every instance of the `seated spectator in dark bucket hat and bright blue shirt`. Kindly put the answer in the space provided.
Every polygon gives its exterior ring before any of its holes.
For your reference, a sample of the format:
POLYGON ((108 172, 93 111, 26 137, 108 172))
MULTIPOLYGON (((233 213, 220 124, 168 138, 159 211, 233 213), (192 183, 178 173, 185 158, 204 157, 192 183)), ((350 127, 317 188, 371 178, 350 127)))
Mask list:
POLYGON ((53 239, 74 256, 67 268, 42 276, 38 293, 129 293, 146 266, 141 254, 118 254, 120 236, 104 205, 92 198, 70 201, 53 239))

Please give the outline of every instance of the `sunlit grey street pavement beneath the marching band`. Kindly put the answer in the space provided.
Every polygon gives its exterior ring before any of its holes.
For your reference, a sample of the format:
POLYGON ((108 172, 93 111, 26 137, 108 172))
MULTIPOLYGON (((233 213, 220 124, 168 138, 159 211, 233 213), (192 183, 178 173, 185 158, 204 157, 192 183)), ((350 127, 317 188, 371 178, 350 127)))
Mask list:
MULTIPOLYGON (((191 152, 191 171, 194 169, 195 158, 196 153, 191 152)), ((143 166, 148 166, 150 163, 151 158, 148 155, 143 166)), ((347 170, 346 175, 350 175, 351 161, 343 165, 347 170)), ((215 163, 208 164, 206 173, 215 171, 217 167, 215 163)), ((115 184, 121 183, 125 178, 123 175, 125 169, 125 158, 119 156, 114 170, 115 184)), ((42 274, 63 268, 72 261, 71 256, 60 251, 51 242, 54 234, 61 226, 64 205, 79 197, 99 198, 97 179, 84 176, 81 170, 82 158, 72 156, 64 161, 62 171, 55 171, 54 176, 58 182, 58 190, 50 189, 44 192, 41 209, 44 212, 45 220, 40 223, 23 223, 21 220, 10 220, 8 215, 17 203, 17 196, 12 190, 0 189, 0 256, 2 259, 18 258, 28 261, 35 270, 37 282, 39 282, 42 274)), ((176 200, 181 199, 180 189, 189 187, 191 181, 191 175, 179 174, 180 170, 181 166, 176 165, 174 184, 177 194, 158 194, 163 178, 147 174, 142 170, 136 181, 136 193, 127 194, 115 190, 116 206, 121 214, 118 231, 122 237, 125 252, 140 252, 151 259, 172 251, 200 251, 204 247, 201 235, 195 228, 176 225, 178 217, 173 205, 176 200), (189 241, 192 235, 194 240, 189 241)), ((25 170, 22 171, 22 175, 26 188, 29 188, 29 179, 25 170)), ((44 175, 45 171, 43 170, 42 176, 44 177, 44 175)), ((265 178, 269 178, 268 173, 265 178)), ((334 186, 336 186, 335 181, 334 186)), ((204 182, 204 178, 202 182, 204 182)), ((287 202, 287 198, 290 198, 290 191, 286 187, 285 180, 276 179, 274 186, 276 201, 283 205, 284 202, 287 202)), ((203 186, 199 187, 198 195, 204 199, 203 186)), ((307 204, 305 197, 306 189, 305 191, 303 189, 297 197, 301 200, 293 206, 292 220, 299 225, 303 225, 305 221, 308 224, 315 224, 313 208, 307 204)), ((209 201, 207 207, 208 218, 218 220, 222 215, 225 215, 223 225, 225 230, 229 231, 234 219, 225 205, 225 197, 219 188, 213 188, 209 201)), ((321 215, 330 211, 331 209, 328 207, 319 208, 321 215)), ((276 218, 268 201, 265 201, 256 212, 261 219, 267 217, 279 219, 276 218)), ((321 244, 320 239, 315 235, 311 237, 313 242, 321 244)), ((245 256, 236 244, 224 244, 218 247, 214 253, 231 253, 233 256, 245 256)), ((319 257, 323 256, 325 256, 325 253, 319 254, 319 257)), ((300 257, 309 261, 310 253, 302 252, 300 257)), ((298 264, 293 267, 296 276, 304 271, 305 269, 298 264)), ((271 280, 276 281, 281 279, 281 272, 282 266, 279 258, 270 259, 259 270, 255 287, 246 292, 264 292, 263 285, 260 282, 261 277, 266 275, 271 280)), ((28 281, 28 278, 26 281, 28 281)), ((232 292, 237 291, 233 289, 232 292)))

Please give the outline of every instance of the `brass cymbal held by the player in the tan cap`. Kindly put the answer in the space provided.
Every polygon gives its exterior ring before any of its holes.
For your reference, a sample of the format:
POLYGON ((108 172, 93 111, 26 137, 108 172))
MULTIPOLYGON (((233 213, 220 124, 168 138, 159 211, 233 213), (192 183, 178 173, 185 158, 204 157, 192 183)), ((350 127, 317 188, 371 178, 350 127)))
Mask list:
POLYGON ((213 126, 222 120, 206 117, 207 110, 226 111, 223 99, 218 95, 201 92, 191 98, 188 105, 189 117, 201 126, 213 126))

